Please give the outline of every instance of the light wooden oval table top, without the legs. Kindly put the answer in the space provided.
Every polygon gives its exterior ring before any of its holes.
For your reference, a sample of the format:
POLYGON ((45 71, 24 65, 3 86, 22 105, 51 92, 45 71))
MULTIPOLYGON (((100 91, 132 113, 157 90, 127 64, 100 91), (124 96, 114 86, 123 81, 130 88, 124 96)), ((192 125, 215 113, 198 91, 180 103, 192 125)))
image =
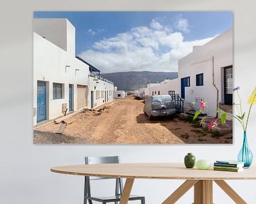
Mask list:
POLYGON ((130 179, 239 180, 256 179, 256 168, 240 172, 186 169, 183 163, 82 164, 50 169, 59 174, 130 179))

